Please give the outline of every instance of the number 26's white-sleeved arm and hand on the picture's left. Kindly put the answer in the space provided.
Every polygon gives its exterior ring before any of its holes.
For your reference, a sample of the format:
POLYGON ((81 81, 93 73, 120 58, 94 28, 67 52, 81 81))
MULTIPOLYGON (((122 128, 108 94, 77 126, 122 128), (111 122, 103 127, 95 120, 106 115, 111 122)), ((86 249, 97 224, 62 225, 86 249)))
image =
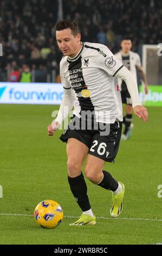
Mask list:
POLYGON ((75 95, 70 83, 67 81, 64 74, 60 72, 61 83, 63 85, 63 99, 60 105, 59 113, 53 122, 48 126, 48 135, 53 136, 54 131, 59 129, 60 125, 62 124, 63 120, 67 117, 74 106, 75 95))

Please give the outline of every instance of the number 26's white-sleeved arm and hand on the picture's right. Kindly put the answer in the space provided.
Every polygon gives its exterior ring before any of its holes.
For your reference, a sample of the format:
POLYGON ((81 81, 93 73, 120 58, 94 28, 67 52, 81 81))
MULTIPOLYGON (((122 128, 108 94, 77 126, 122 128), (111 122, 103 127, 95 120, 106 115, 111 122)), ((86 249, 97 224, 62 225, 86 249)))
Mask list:
POLYGON ((127 85, 128 92, 131 95, 131 99, 132 99, 134 114, 137 115, 144 122, 146 122, 148 118, 147 108, 141 105, 141 102, 139 99, 137 82, 135 81, 132 73, 125 66, 123 66, 118 71, 116 76, 124 80, 127 85))

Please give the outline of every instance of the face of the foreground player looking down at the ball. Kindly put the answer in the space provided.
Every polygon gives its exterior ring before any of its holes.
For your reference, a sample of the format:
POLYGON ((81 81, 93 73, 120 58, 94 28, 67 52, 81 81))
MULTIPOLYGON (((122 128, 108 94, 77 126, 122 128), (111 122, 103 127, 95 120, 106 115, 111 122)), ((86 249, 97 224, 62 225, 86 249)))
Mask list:
POLYGON ((80 50, 81 35, 74 36, 70 28, 56 31, 57 44, 64 56, 74 57, 80 50))

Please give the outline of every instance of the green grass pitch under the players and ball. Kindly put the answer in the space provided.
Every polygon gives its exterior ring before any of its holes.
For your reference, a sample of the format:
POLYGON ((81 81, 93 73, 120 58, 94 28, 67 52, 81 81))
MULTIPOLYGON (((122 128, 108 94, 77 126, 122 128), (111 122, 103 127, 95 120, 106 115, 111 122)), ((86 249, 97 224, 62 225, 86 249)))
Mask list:
POLYGON ((0 105, 0 243, 1 244, 155 244, 162 243, 161 108, 148 108, 147 123, 134 117, 129 141, 120 143, 115 164, 105 169, 126 187, 124 210, 109 215, 112 194, 91 184, 88 194, 96 225, 70 227, 81 212, 67 182, 66 144, 47 136, 51 112, 58 106, 0 105), (35 206, 53 199, 65 217, 56 229, 34 221, 35 206))

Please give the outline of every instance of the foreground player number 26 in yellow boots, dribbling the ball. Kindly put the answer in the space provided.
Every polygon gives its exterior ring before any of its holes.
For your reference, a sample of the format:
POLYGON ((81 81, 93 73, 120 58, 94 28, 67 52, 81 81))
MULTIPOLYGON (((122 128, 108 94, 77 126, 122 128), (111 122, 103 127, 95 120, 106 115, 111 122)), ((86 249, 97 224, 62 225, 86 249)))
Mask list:
POLYGON ((60 137, 67 143, 70 190, 82 210, 79 220, 70 225, 94 225, 96 218, 81 172, 86 156, 87 178, 93 184, 112 191, 111 216, 118 217, 123 208, 124 184, 103 170, 105 162, 114 162, 121 137, 122 102, 118 77, 126 82, 134 113, 144 122, 147 121, 147 109, 141 106, 137 83, 131 72, 105 45, 81 42, 79 28, 74 21, 60 20, 55 29, 57 44, 64 55, 60 62, 64 96, 57 118, 48 126, 48 135, 54 135, 74 106, 74 116, 60 137), (92 118, 85 112, 93 113, 92 118))

